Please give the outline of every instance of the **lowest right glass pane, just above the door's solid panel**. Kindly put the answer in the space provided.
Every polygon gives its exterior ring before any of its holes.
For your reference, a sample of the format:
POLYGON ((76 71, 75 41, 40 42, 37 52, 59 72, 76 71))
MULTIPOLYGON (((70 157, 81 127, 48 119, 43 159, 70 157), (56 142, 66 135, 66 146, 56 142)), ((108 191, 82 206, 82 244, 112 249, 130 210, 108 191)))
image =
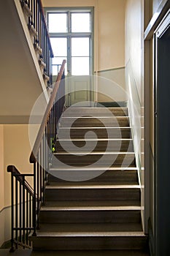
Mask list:
POLYGON ((89 75, 89 57, 72 57, 72 75, 89 75))

